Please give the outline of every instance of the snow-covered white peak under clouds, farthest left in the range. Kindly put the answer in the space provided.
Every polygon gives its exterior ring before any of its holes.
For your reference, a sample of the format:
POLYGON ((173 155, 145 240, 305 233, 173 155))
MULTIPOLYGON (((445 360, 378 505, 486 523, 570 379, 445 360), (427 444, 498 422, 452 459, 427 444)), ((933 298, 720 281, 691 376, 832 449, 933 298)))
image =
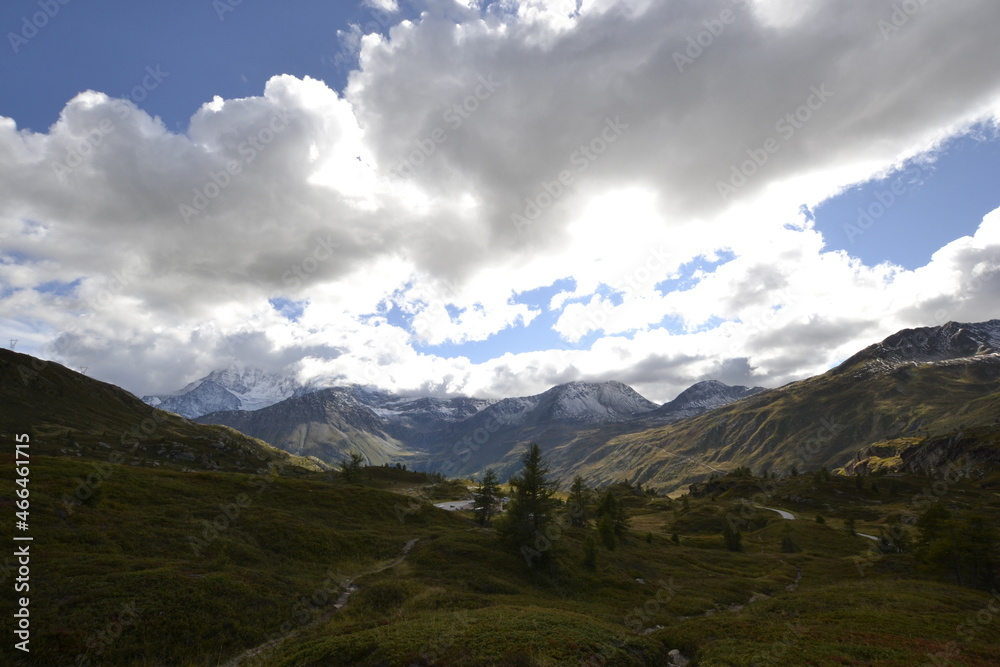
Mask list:
POLYGON ((259 410, 307 391, 292 378, 259 368, 231 366, 212 371, 173 394, 143 396, 142 400, 194 419, 220 410, 259 410))

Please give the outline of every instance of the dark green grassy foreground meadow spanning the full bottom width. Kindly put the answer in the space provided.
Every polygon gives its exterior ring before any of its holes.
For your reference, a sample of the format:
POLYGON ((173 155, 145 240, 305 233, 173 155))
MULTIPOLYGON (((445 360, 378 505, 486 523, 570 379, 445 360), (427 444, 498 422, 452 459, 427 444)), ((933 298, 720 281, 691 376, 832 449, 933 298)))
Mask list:
MULTIPOLYGON (((583 556, 595 530, 567 527, 553 536, 556 567, 537 572, 464 513, 431 507, 457 489, 422 474, 374 468, 347 486, 328 473, 112 466, 96 498, 64 505, 92 468, 32 461, 32 655, 5 646, 7 664, 222 665, 273 640, 235 664, 660 666, 673 649, 700 665, 909 666, 955 650, 952 664, 1000 661, 975 620, 988 593, 844 530, 848 516, 873 535, 916 516, 924 478, 861 490, 840 477, 726 478, 685 500, 628 495, 631 530, 598 547, 594 569, 583 556), (744 522, 742 553, 724 548, 727 515, 744 522), (782 551, 788 530, 798 553, 782 551)), ((0 488, 10 508, 14 486, 0 488)), ((992 491, 958 482, 940 499, 997 527, 992 491)))

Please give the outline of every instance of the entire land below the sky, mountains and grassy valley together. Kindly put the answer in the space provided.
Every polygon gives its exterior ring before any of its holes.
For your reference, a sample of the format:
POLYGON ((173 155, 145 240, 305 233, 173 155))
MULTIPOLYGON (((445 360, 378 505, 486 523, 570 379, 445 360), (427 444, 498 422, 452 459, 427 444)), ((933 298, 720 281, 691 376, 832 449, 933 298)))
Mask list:
POLYGON ((1000 664, 1000 320, 663 405, 241 367, 140 400, 10 350, 0 405, 4 664, 1000 664), (499 515, 435 506, 489 469, 499 515))

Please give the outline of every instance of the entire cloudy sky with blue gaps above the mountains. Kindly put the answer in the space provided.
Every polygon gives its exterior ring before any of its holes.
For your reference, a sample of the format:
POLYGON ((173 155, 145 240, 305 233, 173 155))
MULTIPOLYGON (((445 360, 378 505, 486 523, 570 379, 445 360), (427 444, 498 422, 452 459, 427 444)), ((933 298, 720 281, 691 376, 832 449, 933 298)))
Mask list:
POLYGON ((0 7, 0 340, 137 394, 776 387, 1000 317, 1000 4, 0 7))

